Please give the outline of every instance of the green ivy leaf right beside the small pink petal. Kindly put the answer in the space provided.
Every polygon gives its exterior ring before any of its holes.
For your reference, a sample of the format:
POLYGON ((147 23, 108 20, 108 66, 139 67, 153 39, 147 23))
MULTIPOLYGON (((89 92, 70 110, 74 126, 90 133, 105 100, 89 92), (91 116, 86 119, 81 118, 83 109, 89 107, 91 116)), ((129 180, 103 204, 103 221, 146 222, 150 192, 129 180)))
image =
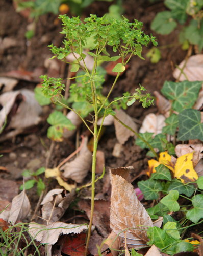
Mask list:
POLYGON ((144 194, 145 200, 157 199, 159 197, 159 191, 162 190, 160 181, 150 179, 146 181, 139 181, 138 187, 144 194))

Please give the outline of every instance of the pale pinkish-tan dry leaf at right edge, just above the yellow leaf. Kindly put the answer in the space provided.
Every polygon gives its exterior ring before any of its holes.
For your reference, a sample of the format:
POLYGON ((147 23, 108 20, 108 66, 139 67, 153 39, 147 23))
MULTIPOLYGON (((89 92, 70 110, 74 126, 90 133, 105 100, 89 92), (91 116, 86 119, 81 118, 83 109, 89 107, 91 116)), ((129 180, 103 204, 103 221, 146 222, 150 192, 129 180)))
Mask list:
POLYGON ((179 144, 175 147, 177 157, 193 153, 193 165, 196 166, 201 158, 203 158, 203 144, 179 144))

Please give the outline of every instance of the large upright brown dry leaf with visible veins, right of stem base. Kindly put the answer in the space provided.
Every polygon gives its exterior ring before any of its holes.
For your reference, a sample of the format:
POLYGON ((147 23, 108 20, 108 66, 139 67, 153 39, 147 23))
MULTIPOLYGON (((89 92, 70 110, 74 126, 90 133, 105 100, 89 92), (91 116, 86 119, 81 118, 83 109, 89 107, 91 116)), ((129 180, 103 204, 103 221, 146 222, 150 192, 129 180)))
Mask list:
POLYGON ((129 168, 111 169, 112 194, 110 226, 115 233, 125 238, 135 248, 146 245, 148 241, 147 227, 153 222, 147 211, 136 197, 129 179, 129 168))

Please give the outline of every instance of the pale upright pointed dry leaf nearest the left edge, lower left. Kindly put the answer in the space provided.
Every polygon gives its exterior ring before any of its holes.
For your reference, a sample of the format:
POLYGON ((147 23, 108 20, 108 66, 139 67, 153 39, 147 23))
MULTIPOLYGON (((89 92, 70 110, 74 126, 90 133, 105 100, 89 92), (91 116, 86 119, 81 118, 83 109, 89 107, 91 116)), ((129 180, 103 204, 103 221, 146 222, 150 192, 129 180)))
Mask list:
POLYGON ((26 190, 23 189, 22 192, 12 200, 8 221, 14 224, 16 221, 23 220, 29 214, 30 209, 31 206, 26 195, 26 190))

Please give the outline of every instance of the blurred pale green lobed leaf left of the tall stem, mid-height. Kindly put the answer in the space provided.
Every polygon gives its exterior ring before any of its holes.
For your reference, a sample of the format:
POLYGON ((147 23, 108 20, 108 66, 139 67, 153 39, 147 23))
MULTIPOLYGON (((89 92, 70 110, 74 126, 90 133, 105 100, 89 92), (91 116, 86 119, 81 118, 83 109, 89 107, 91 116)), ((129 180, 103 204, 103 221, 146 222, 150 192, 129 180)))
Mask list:
POLYGON ((47 136, 55 141, 62 141, 63 131, 74 130, 75 125, 59 111, 54 111, 47 118, 47 122, 52 125, 48 128, 47 136))

